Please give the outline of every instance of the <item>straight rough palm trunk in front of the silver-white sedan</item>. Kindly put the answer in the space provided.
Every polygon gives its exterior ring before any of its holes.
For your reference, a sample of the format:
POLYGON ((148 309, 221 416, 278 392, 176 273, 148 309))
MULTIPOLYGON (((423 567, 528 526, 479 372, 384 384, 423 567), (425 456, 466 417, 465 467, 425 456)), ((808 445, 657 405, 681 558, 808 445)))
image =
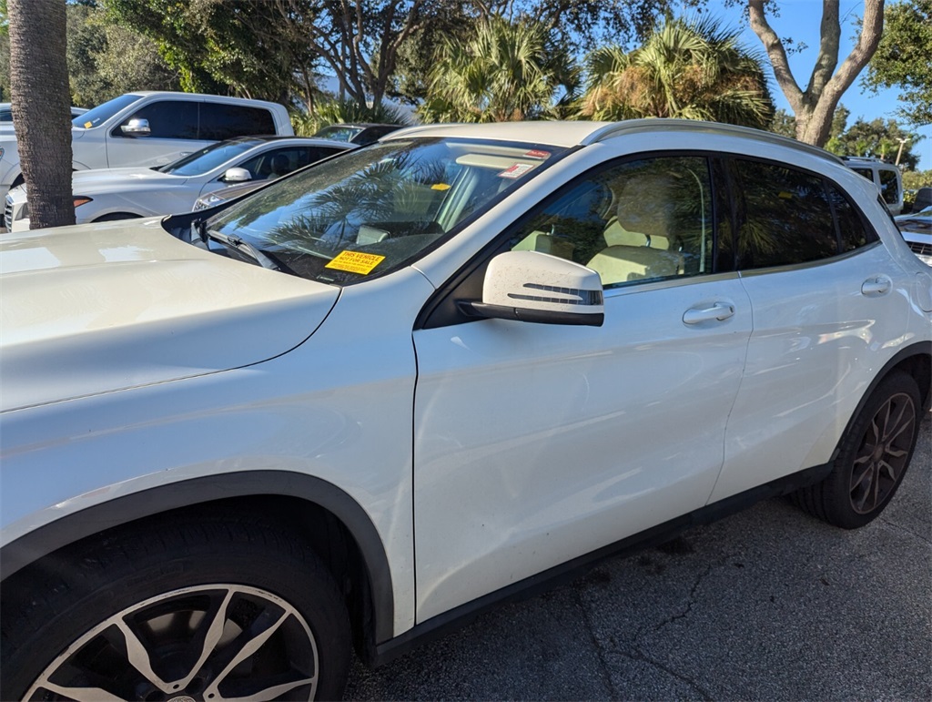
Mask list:
POLYGON ((8 0, 13 124, 33 229, 75 224, 65 0, 8 0))

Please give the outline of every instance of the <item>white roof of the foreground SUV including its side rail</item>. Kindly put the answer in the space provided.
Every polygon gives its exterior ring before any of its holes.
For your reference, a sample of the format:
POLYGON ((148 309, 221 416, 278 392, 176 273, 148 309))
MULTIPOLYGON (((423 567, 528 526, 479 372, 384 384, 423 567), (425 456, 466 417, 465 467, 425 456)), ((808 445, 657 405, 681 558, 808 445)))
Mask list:
POLYGON ((628 119, 624 122, 588 122, 588 121, 533 121, 533 122, 494 122, 483 124, 432 124, 408 127, 392 131, 383 141, 404 139, 410 136, 464 137, 494 141, 524 142, 549 144, 555 146, 590 145, 606 141, 624 134, 686 131, 695 134, 728 134, 752 139, 757 142, 782 145, 797 151, 804 151, 835 163, 842 159, 817 146, 803 144, 795 139, 774 134, 770 131, 753 130, 733 124, 703 122, 695 119, 671 119, 657 117, 651 119, 628 119))

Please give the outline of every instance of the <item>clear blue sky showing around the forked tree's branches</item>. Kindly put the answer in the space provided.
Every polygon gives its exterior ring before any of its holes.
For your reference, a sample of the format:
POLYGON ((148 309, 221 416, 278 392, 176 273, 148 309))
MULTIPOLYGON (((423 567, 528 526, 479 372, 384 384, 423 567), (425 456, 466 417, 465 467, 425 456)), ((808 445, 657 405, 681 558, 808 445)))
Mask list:
MULTIPOLYGON (((795 42, 804 42, 808 48, 803 49, 800 53, 793 54, 789 57, 789 66, 796 78, 797 84, 805 89, 805 83, 812 74, 813 65, 816 62, 818 53, 819 40, 819 22, 822 19, 822 2, 821 0, 780 0, 780 17, 771 19, 771 26, 776 34, 780 37, 792 37, 795 42)), ((728 26, 743 28, 742 39, 748 48, 763 50, 761 40, 757 34, 751 31, 747 21, 741 19, 740 7, 724 7, 721 0, 709 0, 708 13, 714 17, 720 18, 723 24, 728 26)), ((839 64, 844 61, 851 49, 856 43, 857 26, 855 22, 864 12, 864 3, 861 0, 841 0, 840 15, 842 21, 842 46, 839 50, 839 64)), ((766 63, 769 69, 769 63, 766 63)), ((774 95, 774 103, 777 108, 786 110, 792 114, 789 109, 789 103, 784 97, 782 90, 777 86, 774 80, 773 72, 770 73, 771 92, 774 95)), ((884 119, 897 118, 896 110, 900 104, 897 100, 898 91, 895 89, 873 92, 863 89, 860 86, 861 77, 866 73, 863 71, 860 76, 843 94, 841 103, 851 110, 851 116, 848 117, 848 126, 854 124, 858 117, 863 117, 866 121, 883 117, 884 119)), ((900 124, 910 131, 918 132, 925 136, 921 142, 912 147, 912 153, 920 158, 919 169, 932 169, 932 125, 926 124, 922 127, 905 125, 902 120, 900 124)))

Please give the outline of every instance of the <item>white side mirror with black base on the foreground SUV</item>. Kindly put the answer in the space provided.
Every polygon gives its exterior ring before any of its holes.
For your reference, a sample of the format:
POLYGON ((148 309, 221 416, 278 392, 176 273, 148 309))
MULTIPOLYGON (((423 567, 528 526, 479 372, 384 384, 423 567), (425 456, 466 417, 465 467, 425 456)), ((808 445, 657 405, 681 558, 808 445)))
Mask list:
POLYGON ((537 251, 507 251, 486 270, 482 302, 463 301, 474 317, 601 326, 602 279, 591 268, 537 251))

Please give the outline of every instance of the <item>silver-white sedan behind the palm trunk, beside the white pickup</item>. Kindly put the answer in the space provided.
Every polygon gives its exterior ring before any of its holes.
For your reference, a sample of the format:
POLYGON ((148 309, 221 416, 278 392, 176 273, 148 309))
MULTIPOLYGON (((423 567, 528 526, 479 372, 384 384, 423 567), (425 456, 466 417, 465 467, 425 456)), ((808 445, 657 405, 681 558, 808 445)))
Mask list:
MULTIPOLYGON (((77 224, 190 211, 226 186, 281 177, 353 148, 326 139, 249 136, 205 146, 156 168, 105 168, 72 176, 77 224)), ((9 231, 29 229, 26 186, 7 193, 9 231)))

